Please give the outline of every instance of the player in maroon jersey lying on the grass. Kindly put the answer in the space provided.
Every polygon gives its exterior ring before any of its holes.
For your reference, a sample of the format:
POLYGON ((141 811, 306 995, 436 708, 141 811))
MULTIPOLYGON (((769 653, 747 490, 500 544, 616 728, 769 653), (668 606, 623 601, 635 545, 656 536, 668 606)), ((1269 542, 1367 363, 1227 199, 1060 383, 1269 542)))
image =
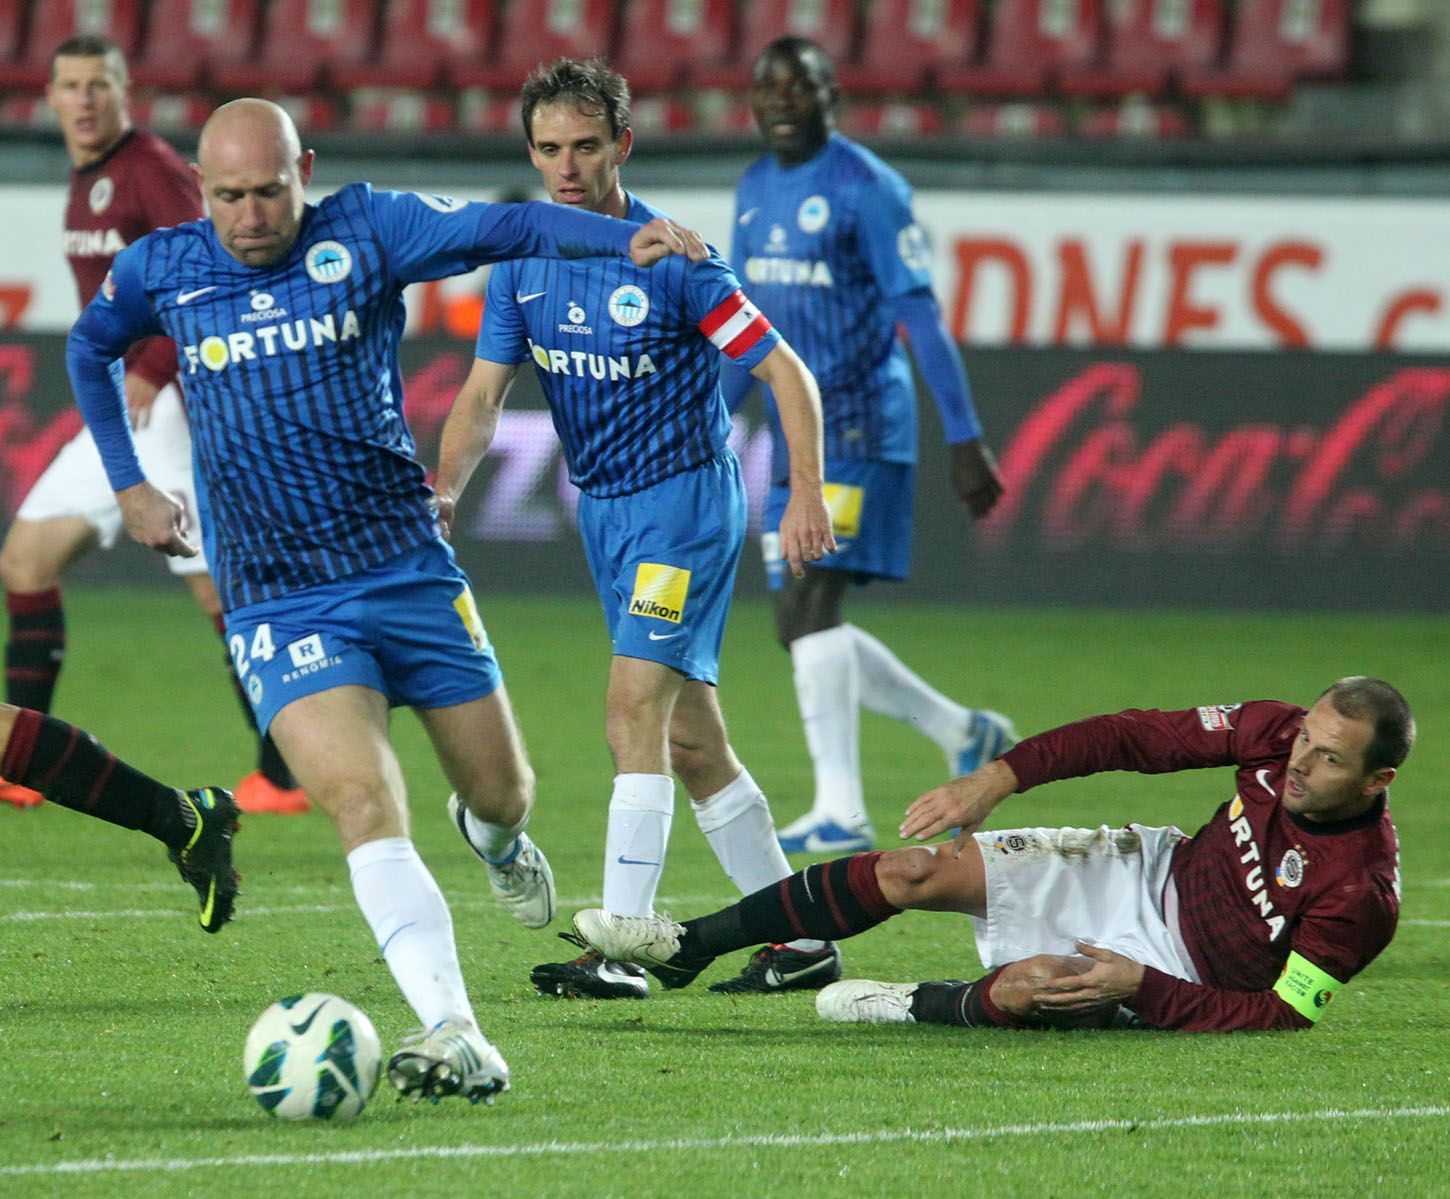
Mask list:
POLYGON ((1276 700, 1092 716, 928 792, 900 834, 950 842, 821 863, 683 925, 581 912, 608 957, 690 982, 760 939, 841 938, 908 908, 964 912, 976 982, 822 990, 825 1019, 1011 1028, 1137 1022, 1185 1032, 1312 1028, 1389 944, 1399 842, 1388 786, 1415 739, 1392 686, 1356 676, 1276 700), (1193 837, 1176 828, 979 832, 1006 796, 1103 770, 1235 768, 1193 837))

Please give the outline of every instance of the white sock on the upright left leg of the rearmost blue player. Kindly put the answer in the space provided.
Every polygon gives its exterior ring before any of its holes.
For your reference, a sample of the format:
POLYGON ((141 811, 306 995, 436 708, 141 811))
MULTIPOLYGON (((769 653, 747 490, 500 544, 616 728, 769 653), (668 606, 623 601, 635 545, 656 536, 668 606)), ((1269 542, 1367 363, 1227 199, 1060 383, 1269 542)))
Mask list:
POLYGON ((848 625, 790 642, 796 702, 815 766, 812 812, 844 828, 866 823, 861 795, 861 671, 848 625))

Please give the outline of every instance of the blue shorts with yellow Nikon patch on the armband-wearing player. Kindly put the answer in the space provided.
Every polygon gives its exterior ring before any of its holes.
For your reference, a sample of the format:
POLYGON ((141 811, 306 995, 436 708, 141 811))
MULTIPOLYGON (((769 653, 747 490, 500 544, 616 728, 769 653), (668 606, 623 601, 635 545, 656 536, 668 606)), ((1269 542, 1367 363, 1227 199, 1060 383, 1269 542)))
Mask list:
POLYGON ((745 486, 728 449, 631 496, 579 497, 579 532, 613 652, 719 681, 745 486))

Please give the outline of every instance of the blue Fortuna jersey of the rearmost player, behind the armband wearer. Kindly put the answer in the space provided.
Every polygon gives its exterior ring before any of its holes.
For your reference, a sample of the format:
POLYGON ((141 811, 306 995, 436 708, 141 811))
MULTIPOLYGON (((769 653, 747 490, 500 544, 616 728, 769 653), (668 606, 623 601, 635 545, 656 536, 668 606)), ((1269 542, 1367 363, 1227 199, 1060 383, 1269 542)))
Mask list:
POLYGON ((796 167, 767 155, 735 190, 731 265, 816 377, 825 457, 915 462, 916 394, 889 302, 929 291, 931 264, 906 180, 840 133, 796 167))

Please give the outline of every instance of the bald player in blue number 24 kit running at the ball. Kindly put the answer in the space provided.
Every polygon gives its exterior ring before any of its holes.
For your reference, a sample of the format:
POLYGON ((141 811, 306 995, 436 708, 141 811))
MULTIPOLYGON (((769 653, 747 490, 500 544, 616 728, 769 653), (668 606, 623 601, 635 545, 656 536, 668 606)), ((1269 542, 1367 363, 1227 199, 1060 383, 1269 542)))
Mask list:
POLYGON ((534 776, 468 580, 439 535, 403 422, 407 283, 509 255, 632 255, 703 242, 547 204, 344 187, 307 204, 312 151, 265 100, 218 109, 197 175, 210 212, 116 255, 71 331, 71 381, 128 532, 194 554, 136 461, 116 360, 181 354, 207 558, 260 728, 328 813, 362 915, 423 1028, 389 1061, 405 1095, 492 1099, 509 1069, 478 1029, 448 905, 409 838, 389 708, 412 706, 499 902, 538 928, 548 863, 525 834, 534 776))

